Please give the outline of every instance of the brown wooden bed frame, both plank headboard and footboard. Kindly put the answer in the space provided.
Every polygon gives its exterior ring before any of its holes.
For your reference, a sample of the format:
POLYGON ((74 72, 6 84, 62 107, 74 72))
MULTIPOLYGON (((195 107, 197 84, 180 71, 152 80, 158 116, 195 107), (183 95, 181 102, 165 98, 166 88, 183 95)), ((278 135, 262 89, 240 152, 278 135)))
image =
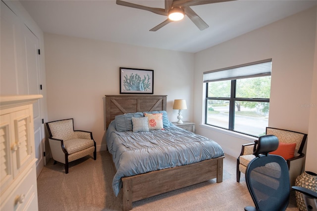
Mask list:
MULTIPOLYGON (((166 95, 106 95, 106 127, 116 115, 166 111, 166 95)), ((123 210, 132 202, 216 178, 222 182, 223 158, 123 177, 123 210)))

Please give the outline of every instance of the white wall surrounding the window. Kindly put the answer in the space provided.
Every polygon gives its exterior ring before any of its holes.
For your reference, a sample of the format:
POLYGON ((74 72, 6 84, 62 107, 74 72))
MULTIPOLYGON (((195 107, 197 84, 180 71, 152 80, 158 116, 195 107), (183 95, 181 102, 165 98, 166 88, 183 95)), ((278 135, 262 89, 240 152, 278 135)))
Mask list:
MULTIPOLYGON (((311 102, 315 33, 316 7, 196 53, 196 131, 217 141, 225 153, 238 157, 241 145, 254 138, 199 126, 204 122, 203 72, 272 58, 268 126, 308 133, 310 108, 301 105, 311 102)), ((314 127, 316 130, 316 123, 314 127)), ((309 141, 316 142, 316 133, 312 136, 309 134, 309 141)), ((315 155, 307 155, 307 160, 313 159, 316 164, 315 155)))

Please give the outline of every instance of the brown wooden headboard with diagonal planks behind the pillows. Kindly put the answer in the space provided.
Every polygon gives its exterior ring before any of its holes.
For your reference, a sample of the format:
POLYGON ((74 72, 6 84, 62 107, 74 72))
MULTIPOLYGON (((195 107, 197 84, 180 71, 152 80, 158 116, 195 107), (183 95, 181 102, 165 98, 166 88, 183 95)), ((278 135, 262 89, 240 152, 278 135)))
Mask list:
POLYGON ((166 111, 167 95, 106 95, 106 128, 121 114, 166 111))

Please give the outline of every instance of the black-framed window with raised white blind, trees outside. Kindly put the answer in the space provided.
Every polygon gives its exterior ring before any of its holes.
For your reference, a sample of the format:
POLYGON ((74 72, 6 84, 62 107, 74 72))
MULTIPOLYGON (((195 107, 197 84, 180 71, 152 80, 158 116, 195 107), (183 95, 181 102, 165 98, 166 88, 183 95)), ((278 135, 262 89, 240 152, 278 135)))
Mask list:
POLYGON ((205 124, 261 136, 268 126, 271 59, 204 73, 205 124))

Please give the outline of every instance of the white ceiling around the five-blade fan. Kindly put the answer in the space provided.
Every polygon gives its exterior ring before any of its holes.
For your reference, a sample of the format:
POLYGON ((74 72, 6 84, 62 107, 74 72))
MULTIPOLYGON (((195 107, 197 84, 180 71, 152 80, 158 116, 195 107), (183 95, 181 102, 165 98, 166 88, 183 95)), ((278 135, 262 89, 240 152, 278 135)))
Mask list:
MULTIPOLYGON (((164 8, 164 0, 126 0, 164 8)), ((157 32, 166 16, 120 6, 115 0, 21 0, 45 33, 198 52, 308 9, 317 0, 235 0, 192 6, 210 26, 200 31, 187 17, 157 32)))

